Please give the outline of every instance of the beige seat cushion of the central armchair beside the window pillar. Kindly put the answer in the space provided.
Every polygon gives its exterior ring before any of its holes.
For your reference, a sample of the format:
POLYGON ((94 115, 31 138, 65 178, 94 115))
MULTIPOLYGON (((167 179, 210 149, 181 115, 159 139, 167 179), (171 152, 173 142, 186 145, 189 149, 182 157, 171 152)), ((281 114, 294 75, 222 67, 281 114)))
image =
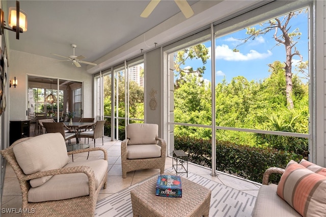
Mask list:
POLYGON ((161 147, 155 144, 147 145, 128 145, 127 158, 140 159, 140 158, 153 158, 161 156, 161 147))

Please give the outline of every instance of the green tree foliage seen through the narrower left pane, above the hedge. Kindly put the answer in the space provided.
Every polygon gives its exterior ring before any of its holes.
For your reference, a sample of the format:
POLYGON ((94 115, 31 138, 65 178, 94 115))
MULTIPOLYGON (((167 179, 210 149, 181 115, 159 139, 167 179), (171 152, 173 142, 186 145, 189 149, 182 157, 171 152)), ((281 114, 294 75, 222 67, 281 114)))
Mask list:
MULTIPOLYGON (((174 53, 174 121, 180 123, 211 124, 211 87, 205 85, 202 74, 208 56, 208 48, 198 44, 174 53), (200 59, 202 66, 194 69, 185 66, 187 60, 200 59)), ((207 128, 176 126, 176 135, 192 138, 211 138, 207 128)))

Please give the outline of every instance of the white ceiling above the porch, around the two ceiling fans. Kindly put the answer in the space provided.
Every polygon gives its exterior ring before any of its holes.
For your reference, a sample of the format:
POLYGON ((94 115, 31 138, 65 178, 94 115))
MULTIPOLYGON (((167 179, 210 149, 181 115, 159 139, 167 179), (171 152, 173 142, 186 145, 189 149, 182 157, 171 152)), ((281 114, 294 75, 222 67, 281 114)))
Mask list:
MULTIPOLYGON (((163 26, 160 29, 172 30, 170 26, 176 26, 183 22, 182 27, 179 26, 178 30, 192 31, 203 23, 208 24, 227 13, 233 13, 232 11, 243 9, 260 1, 188 0, 187 2, 195 11, 195 15, 188 20, 184 18, 172 0, 162 0, 148 18, 140 17, 149 2, 149 0, 21 0, 20 9, 25 11, 28 16, 28 31, 20 34, 19 40, 16 40, 14 32, 8 31, 9 40, 7 42, 9 48, 13 50, 59 59, 60 57, 53 56, 51 53, 68 57, 73 52, 71 44, 76 44, 76 56, 83 55, 86 57, 83 59, 84 61, 101 63, 103 56, 107 53, 130 43, 137 37, 142 37, 144 33, 152 31, 155 26, 156 28, 163 26), (218 8, 213 13, 205 11, 221 2, 227 8, 218 8), (172 25, 169 24, 169 27, 168 21, 173 22, 172 25)), ((2 3, 7 21, 8 8, 15 7, 16 1, 2 0, 2 3)), ((174 33, 178 32, 173 31, 174 33)), ((145 39, 143 40, 145 41, 145 39)), ((164 40, 168 40, 168 37, 161 41, 164 40)))

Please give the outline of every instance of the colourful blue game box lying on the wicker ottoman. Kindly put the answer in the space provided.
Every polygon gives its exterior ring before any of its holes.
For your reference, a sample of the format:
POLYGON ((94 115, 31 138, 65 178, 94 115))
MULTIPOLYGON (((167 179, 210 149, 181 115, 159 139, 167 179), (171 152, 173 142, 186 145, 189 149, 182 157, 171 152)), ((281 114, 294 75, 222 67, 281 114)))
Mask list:
POLYGON ((182 187, 180 176, 158 175, 155 195, 161 197, 181 198, 182 187))

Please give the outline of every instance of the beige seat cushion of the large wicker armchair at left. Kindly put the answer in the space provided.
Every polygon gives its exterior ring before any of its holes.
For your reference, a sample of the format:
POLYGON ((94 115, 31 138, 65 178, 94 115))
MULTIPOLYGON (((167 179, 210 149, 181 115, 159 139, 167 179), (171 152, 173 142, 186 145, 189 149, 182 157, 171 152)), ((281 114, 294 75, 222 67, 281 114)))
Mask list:
MULTIPOLYGON (((107 160, 95 159, 69 162, 65 168, 88 166, 94 171, 95 187, 107 175, 107 160)), ((28 192, 29 202, 64 200, 89 195, 88 177, 84 173, 62 174, 52 176, 47 182, 38 187, 31 187, 28 192)))

